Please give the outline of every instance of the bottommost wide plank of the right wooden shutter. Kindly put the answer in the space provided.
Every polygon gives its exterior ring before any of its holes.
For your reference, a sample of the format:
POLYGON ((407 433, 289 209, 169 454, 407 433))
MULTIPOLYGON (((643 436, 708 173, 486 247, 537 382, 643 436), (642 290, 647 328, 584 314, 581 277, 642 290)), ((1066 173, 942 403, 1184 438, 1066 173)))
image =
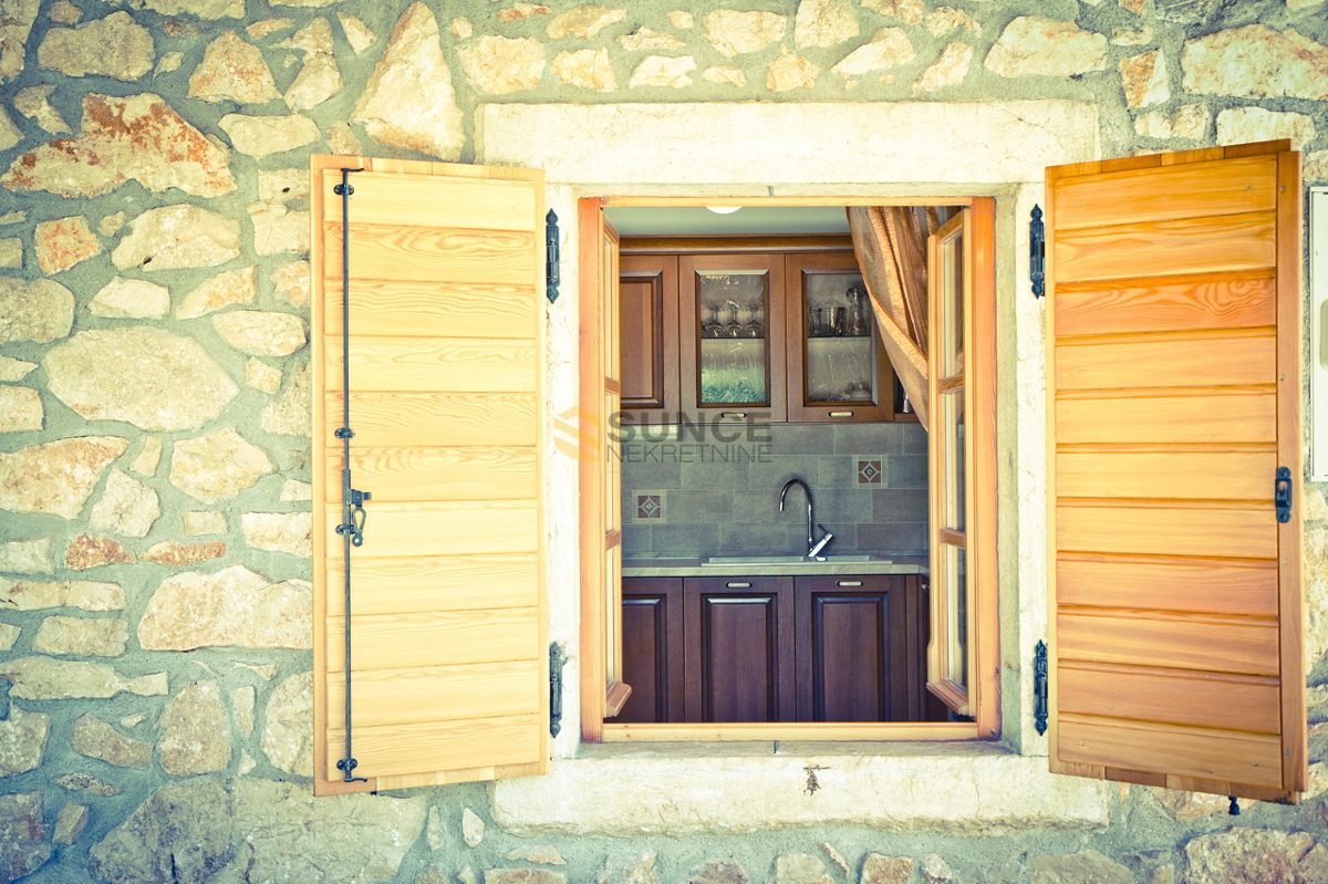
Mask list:
POLYGON ((1060 757, 1070 763, 1161 774, 1282 784, 1282 739, 1211 727, 1146 725, 1061 713, 1060 757))

